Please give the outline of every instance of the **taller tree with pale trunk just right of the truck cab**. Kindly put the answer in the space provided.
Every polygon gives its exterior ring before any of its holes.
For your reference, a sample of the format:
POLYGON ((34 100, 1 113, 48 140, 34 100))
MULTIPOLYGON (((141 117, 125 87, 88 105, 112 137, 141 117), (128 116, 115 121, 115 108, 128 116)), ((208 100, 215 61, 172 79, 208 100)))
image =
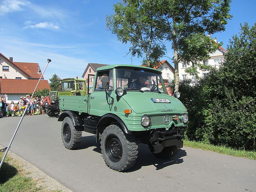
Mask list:
MULTIPOLYGON (((175 91, 178 91, 179 61, 203 58, 191 53, 191 49, 184 48, 187 45, 196 48, 205 43, 209 44, 210 39, 204 38, 205 33, 214 34, 225 30, 227 20, 232 17, 229 14, 231 0, 145 0, 143 2, 147 2, 151 10, 158 12, 157 20, 161 20, 164 23, 162 25, 165 25, 162 29, 165 30, 166 39, 172 43, 175 91), (196 36, 201 36, 204 40, 190 41, 196 36)), ((207 48, 204 49, 209 51, 207 48)), ((210 46, 211 50, 212 46, 210 46)))

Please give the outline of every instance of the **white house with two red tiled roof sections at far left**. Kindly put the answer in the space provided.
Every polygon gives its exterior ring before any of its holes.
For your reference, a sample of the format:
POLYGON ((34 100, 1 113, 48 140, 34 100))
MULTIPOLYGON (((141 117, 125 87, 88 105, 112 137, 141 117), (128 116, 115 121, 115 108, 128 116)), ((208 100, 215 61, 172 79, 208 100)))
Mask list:
MULTIPOLYGON (((41 76, 38 63, 13 62, 12 57, 7 59, 0 53, 0 94, 5 96, 7 103, 18 102, 21 96, 33 93, 41 76)), ((47 80, 41 80, 37 90, 44 88, 51 90, 47 80)))

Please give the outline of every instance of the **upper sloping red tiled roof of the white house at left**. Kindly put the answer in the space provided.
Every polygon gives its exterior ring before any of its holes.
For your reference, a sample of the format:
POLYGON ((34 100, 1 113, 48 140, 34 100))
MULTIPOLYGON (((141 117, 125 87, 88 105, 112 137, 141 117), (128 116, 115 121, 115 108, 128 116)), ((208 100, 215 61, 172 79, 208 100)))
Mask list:
POLYGON ((22 71, 24 71, 26 74, 28 74, 28 76, 30 76, 31 78, 39 79, 42 75, 42 71, 38 63, 23 63, 23 62, 13 62, 13 63, 22 71))

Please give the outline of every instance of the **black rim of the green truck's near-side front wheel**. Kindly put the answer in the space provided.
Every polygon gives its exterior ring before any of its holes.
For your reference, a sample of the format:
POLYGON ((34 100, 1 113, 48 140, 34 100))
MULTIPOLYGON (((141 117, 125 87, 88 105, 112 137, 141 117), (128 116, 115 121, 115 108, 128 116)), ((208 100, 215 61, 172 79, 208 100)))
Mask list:
POLYGON ((109 135, 105 142, 105 148, 108 158, 112 162, 118 162, 122 158, 123 148, 116 135, 109 135))

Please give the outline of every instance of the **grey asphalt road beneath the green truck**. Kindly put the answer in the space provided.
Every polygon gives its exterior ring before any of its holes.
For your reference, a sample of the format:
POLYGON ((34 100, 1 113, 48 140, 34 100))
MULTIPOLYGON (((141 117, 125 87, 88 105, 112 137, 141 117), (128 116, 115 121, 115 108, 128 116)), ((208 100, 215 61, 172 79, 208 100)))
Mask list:
MULTIPOLYGON (((0 145, 8 146, 19 120, 0 119, 0 145)), ((140 144, 136 164, 115 172, 105 165, 93 135, 83 132, 80 147, 68 150, 60 130, 55 117, 25 116, 10 150, 74 192, 256 191, 254 160, 188 147, 162 160, 140 144)))

